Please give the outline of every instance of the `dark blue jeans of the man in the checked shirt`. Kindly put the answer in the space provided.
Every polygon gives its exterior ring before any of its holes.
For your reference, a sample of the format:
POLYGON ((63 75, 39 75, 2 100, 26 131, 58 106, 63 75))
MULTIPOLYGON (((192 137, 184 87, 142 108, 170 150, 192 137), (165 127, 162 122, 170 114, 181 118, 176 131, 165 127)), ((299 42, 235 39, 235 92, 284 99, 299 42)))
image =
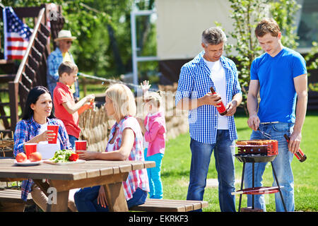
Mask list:
POLYGON ((216 143, 212 144, 191 139, 192 159, 187 200, 203 200, 208 165, 214 150, 218 172, 220 210, 222 212, 235 212, 235 196, 231 195, 231 192, 235 191, 235 147, 233 145, 234 141, 230 140, 228 130, 218 130, 216 143))

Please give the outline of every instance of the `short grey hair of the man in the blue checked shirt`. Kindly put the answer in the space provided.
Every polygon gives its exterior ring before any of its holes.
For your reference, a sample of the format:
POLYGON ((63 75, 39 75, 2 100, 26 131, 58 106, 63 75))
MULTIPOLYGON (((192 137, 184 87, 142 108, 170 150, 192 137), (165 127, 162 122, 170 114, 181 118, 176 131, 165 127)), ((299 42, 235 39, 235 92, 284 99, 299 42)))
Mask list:
POLYGON ((205 46, 208 44, 220 44, 227 41, 225 32, 220 28, 208 28, 202 32, 202 42, 205 46))

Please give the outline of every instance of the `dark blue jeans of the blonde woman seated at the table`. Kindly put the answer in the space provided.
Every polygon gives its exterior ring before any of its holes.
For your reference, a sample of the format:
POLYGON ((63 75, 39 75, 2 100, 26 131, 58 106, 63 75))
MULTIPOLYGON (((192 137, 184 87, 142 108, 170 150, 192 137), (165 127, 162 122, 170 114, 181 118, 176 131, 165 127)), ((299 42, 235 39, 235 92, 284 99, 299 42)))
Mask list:
MULTIPOLYGON (((76 191, 74 201, 78 212, 108 212, 108 206, 103 208, 98 204, 100 186, 93 186, 76 191)), ((136 189, 133 197, 127 201, 128 208, 145 203, 147 191, 136 189)))

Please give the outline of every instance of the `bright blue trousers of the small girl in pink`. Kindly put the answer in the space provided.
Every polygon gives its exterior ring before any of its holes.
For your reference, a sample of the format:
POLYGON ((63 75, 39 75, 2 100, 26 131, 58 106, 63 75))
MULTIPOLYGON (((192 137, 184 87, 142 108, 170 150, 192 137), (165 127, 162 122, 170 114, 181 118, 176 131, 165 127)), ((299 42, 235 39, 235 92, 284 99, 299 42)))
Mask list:
POLYGON ((147 150, 148 148, 146 148, 144 151, 145 160, 155 162, 155 167, 147 169, 149 189, 150 189, 149 197, 163 199, 163 182, 161 182, 161 177, 160 177, 161 162, 163 160, 163 154, 158 153, 158 154, 147 157, 147 150))

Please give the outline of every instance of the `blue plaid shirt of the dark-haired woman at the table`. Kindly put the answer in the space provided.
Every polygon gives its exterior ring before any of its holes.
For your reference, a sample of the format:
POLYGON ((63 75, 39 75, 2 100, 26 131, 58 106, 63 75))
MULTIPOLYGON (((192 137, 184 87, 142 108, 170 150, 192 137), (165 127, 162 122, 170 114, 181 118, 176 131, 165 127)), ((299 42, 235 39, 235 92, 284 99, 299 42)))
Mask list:
MULTIPOLYGON (((61 149, 70 149, 71 143, 69 143, 69 136, 66 133, 65 126, 63 122, 59 119, 49 119, 47 118, 48 125, 59 125, 58 139, 61 143, 61 149)), ((25 142, 30 141, 38 135, 40 129, 40 124, 34 121, 33 117, 31 119, 21 120, 16 124, 16 130, 14 131, 14 146, 13 154, 16 156, 18 153, 23 153, 23 145, 25 142)), ((21 184, 21 198, 23 201, 27 201, 28 194, 31 191, 32 185, 34 184, 32 179, 24 180, 21 184)))

